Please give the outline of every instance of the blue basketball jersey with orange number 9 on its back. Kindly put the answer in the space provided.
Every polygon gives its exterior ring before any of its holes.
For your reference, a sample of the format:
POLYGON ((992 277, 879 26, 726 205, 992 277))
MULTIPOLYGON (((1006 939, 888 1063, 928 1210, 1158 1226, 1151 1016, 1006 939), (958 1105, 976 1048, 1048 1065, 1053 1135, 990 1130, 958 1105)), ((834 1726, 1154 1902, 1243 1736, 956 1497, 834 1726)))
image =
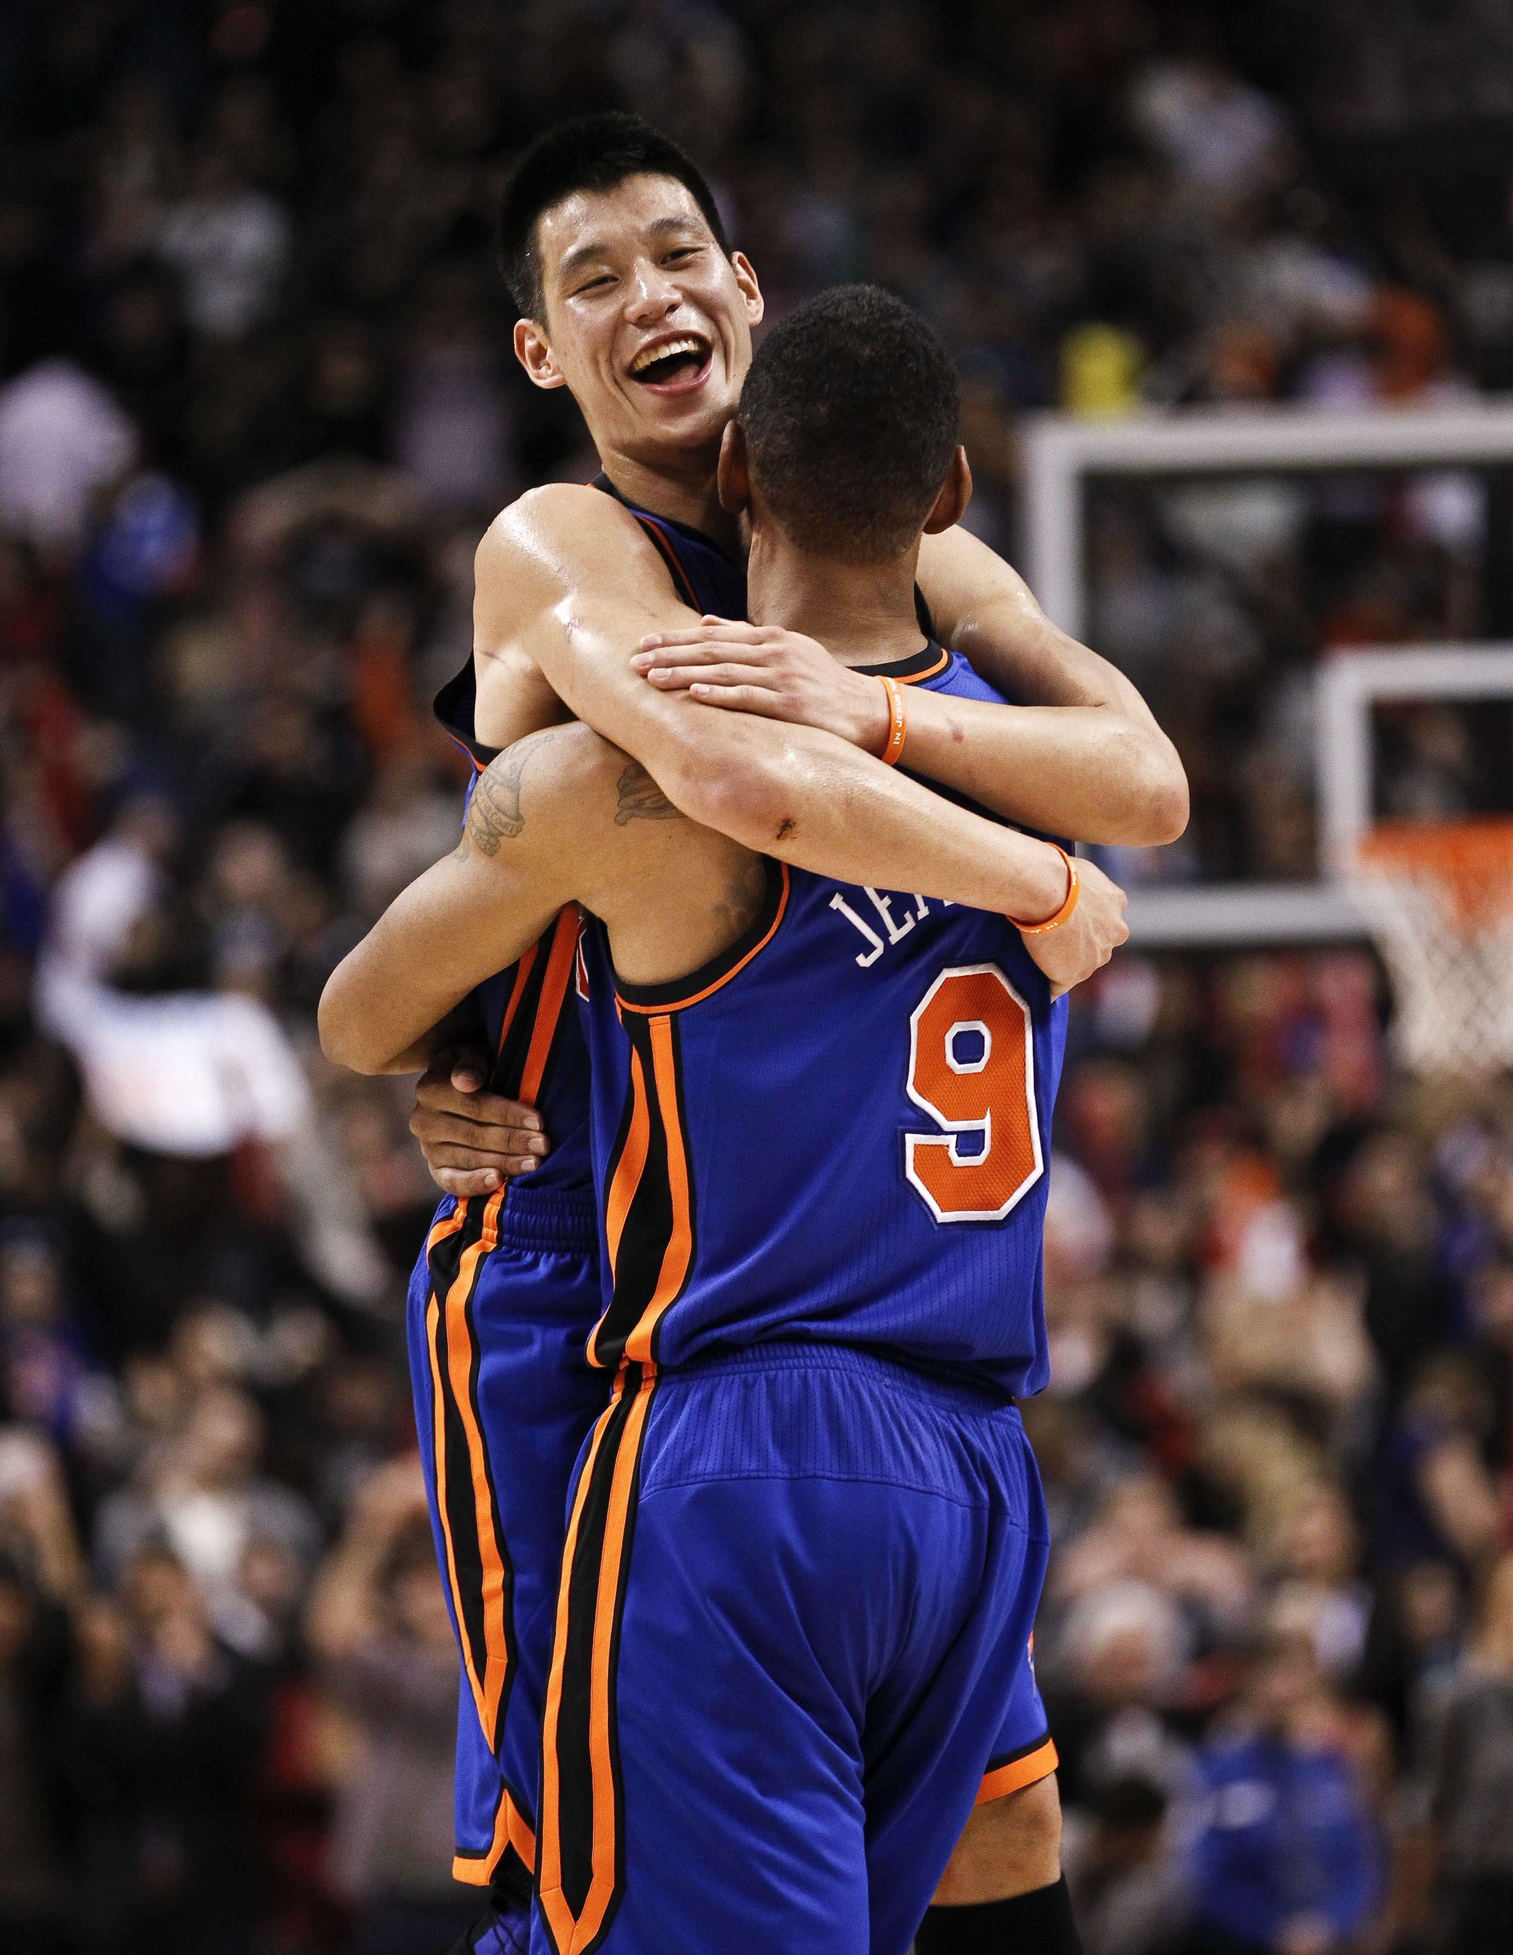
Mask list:
MULTIPOLYGON (((929 643, 889 676, 999 698, 929 643)), ((1042 1226, 1065 1001, 999 915, 766 864, 717 960, 616 978, 581 936, 610 1302, 590 1361, 776 1337, 1046 1384, 1042 1226)))

